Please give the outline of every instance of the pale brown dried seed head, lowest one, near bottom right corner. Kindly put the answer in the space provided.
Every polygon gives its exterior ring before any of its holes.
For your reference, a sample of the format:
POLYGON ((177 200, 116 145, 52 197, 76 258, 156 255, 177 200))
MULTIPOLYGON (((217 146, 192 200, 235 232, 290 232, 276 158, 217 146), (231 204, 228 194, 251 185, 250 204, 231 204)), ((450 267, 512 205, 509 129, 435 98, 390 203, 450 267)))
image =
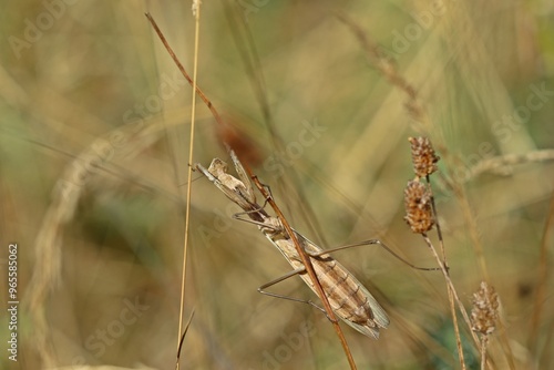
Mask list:
POLYGON ((494 323, 499 318, 499 295, 485 281, 481 281, 478 292, 473 294, 473 309, 471 321, 473 331, 483 336, 494 331, 494 323))

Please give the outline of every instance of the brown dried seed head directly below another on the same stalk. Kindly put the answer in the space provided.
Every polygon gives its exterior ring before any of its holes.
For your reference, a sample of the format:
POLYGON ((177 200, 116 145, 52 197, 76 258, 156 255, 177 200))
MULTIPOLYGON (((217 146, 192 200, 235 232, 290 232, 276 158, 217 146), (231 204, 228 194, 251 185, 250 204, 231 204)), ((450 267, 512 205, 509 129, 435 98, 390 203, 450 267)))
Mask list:
POLYGON ((404 189, 404 219, 413 233, 423 234, 433 227, 431 192, 419 181, 410 181, 404 189))

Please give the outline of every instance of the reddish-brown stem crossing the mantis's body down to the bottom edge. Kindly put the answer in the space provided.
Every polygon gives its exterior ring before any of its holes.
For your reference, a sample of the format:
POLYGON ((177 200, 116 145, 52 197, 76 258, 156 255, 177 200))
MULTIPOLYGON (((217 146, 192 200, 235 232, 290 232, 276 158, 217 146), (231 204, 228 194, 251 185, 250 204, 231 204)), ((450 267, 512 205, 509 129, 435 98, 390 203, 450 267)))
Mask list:
POLYGON ((345 354, 348 359, 348 363, 350 366, 350 369, 355 370, 357 369, 356 362, 353 361, 352 353, 350 352, 350 347, 348 347, 347 340, 345 338, 345 335, 342 333, 342 329, 340 328, 339 321, 337 320, 337 317, 335 316, 335 312, 332 311, 331 306, 329 305, 329 300, 327 299, 327 296, 324 291, 324 288, 321 288, 321 285, 319 282, 319 279, 316 276, 316 271, 314 270, 314 266, 311 265, 311 260, 309 259, 308 255, 304 250, 304 248, 300 246, 298 243, 298 239, 296 237, 296 233, 294 233, 293 228, 288 224, 287 219, 285 218, 285 215, 283 215, 281 210, 275 203, 274 198, 271 195, 268 194, 264 185, 259 182, 258 177, 253 174, 250 167, 246 165, 246 171, 248 172, 248 176, 253 179, 254 184, 256 184, 256 187, 258 188, 259 193, 264 196, 264 198, 269 203, 271 208, 275 210, 275 214, 279 218, 279 220, 283 224, 283 227, 285 227, 285 230, 288 233, 290 236, 290 239, 293 240, 298 256, 300 256, 300 259, 306 268, 306 273, 308 273, 311 281, 314 282, 314 286, 317 289, 317 294, 321 299, 321 302, 324 304, 325 311, 327 314, 327 317, 329 318, 329 321, 331 321, 332 326, 335 327, 335 331, 337 332, 337 336, 340 339, 340 343, 342 345, 342 349, 345 350, 345 354))

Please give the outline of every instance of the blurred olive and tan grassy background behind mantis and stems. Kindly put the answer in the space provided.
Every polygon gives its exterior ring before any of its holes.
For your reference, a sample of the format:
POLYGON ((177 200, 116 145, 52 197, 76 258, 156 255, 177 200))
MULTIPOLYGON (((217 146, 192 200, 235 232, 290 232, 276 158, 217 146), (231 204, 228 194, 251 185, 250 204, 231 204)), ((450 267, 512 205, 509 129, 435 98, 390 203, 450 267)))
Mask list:
MULTIPOLYGON (((44 241, 39 230, 57 229, 62 279, 41 306, 54 364, 170 369, 177 341, 191 88, 144 12, 153 14, 192 72, 191 3, 3 1, 2 9, 2 253, 10 241, 20 246, 22 300, 29 299, 33 271, 52 263, 48 255, 37 258, 35 247, 44 241), (121 127, 154 129, 133 136, 86 176, 62 225, 45 223, 57 206, 55 184, 80 163, 72 161, 83 151, 98 153, 121 127)), ((198 84, 248 137, 257 160, 252 164, 289 222, 327 248, 380 237, 410 261, 433 266, 423 240, 402 219, 402 192, 412 177, 407 138, 431 137, 443 157, 435 184, 450 181, 463 189, 435 186, 461 299, 470 309, 484 278, 476 236, 512 348, 505 354, 495 333, 496 367, 512 361, 519 369, 547 369, 554 362, 547 350, 553 286, 541 274, 553 267, 552 162, 524 163, 504 175, 468 174, 492 155, 554 147, 553 18, 547 1, 205 1, 198 84), (394 60, 431 125, 418 130, 404 109, 406 94, 372 65, 335 11, 351 17, 394 60), (261 89, 253 78, 258 74, 261 89), (520 121, 510 121, 517 114, 520 121), (285 171, 276 168, 277 157, 285 171)), ((196 162, 207 166, 215 156, 227 158, 217 134, 198 102, 196 162)), ((256 291, 288 271, 256 227, 232 220, 237 209, 204 178, 194 182, 192 209, 185 315, 194 309, 195 317, 182 367, 345 369, 324 315, 256 291)), ((345 328, 360 369, 458 367, 439 273, 416 271, 372 247, 336 257, 376 292, 392 319, 379 341, 345 328)), ((274 289, 312 298, 299 280, 274 289)), ((0 363, 41 368, 35 338, 42 333, 29 312, 21 309, 19 320, 20 361, 2 356, 0 363)), ((0 332, 8 335, 6 319, 0 332)), ((474 356, 466 351, 469 362, 474 356)))

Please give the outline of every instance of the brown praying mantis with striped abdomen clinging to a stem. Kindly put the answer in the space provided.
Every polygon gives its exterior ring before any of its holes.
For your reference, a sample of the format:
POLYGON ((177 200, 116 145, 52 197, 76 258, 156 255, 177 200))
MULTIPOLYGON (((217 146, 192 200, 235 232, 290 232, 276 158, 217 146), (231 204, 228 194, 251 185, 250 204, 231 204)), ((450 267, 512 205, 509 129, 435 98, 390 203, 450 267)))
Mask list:
MULTIPOLYGON (((291 276, 299 275, 308 287, 310 287, 317 295, 317 289, 310 277, 306 274, 306 267, 295 248, 290 235, 288 235, 279 218, 270 216, 264 207, 256 203, 256 196, 254 194, 250 178, 248 177, 235 152, 230 148, 229 154, 233 164, 235 165, 238 178, 227 173, 227 164, 219 158, 214 158, 207 169, 201 164, 196 164, 196 168, 212 183, 214 183, 214 185, 217 186, 217 188, 219 188, 219 191, 222 191, 230 201, 243 208, 243 214, 246 214, 250 219, 239 219, 257 225, 259 230, 283 254, 293 267, 290 273, 260 286, 258 291, 273 297, 308 302, 319 308, 311 301, 285 297, 264 290, 267 287, 280 282, 291 276)), ((235 215, 235 217, 238 218, 238 215, 235 215)), ((369 292, 369 290, 351 273, 332 258, 329 253, 360 245, 375 244, 384 247, 388 251, 411 267, 429 270, 429 268, 416 267, 406 261, 379 239, 370 239, 358 244, 324 250, 298 232, 293 232, 306 254, 309 256, 319 284, 321 285, 330 307, 337 317, 365 336, 375 339, 379 338, 380 329, 384 329, 389 326, 390 321, 387 312, 381 305, 379 305, 377 299, 369 292)), ((322 310, 321 308, 319 309, 322 310)))

